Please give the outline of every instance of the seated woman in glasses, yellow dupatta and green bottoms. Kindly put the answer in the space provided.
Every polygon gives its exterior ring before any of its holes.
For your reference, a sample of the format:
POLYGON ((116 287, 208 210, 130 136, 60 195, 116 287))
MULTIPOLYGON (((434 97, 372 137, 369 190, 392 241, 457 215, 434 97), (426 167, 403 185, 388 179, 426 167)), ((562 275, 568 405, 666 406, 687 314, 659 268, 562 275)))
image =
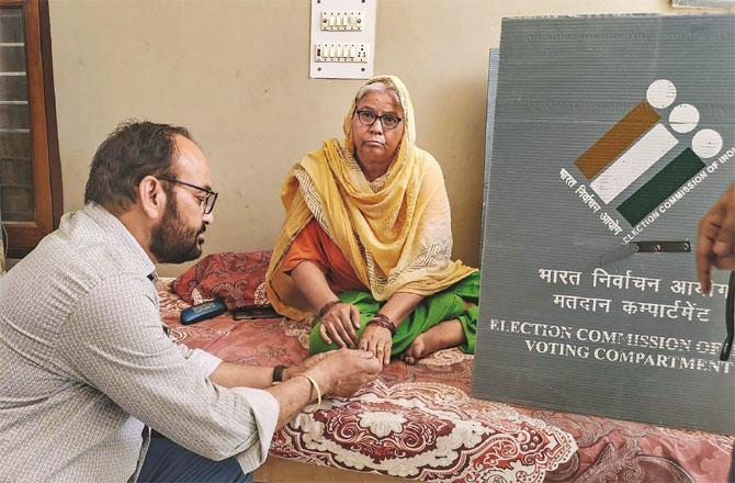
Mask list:
POLYGON ((317 315, 312 353, 338 347, 407 363, 449 347, 474 352, 479 273, 452 261, 437 160, 415 144, 403 82, 376 77, 326 141, 286 176, 286 220, 268 295, 291 318, 317 315))

